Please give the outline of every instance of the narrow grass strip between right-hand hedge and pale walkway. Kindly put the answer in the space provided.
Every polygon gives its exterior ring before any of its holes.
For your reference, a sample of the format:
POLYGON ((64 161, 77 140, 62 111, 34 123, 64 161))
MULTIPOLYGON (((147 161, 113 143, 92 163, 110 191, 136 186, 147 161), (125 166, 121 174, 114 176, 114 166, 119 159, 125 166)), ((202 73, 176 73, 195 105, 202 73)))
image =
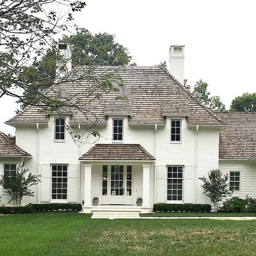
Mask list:
POLYGON ((256 213, 250 212, 234 212, 234 213, 221 213, 221 212, 156 212, 156 213, 143 213, 140 217, 256 217, 256 213))

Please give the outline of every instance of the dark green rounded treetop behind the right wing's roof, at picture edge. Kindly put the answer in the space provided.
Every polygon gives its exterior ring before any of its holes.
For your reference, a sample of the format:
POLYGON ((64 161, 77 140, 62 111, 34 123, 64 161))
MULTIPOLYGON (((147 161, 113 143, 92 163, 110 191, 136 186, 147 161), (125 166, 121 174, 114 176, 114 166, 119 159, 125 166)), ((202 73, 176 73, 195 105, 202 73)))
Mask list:
POLYGON ((232 100, 230 111, 256 112, 256 93, 243 93, 232 100))

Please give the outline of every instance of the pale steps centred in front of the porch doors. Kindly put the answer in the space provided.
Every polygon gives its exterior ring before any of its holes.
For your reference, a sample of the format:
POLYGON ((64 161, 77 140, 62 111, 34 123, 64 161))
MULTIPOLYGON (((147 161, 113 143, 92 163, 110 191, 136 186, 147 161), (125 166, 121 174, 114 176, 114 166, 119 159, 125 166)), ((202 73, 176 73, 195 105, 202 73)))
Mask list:
POLYGON ((140 210, 138 209, 96 209, 92 210, 92 219, 137 219, 140 210))

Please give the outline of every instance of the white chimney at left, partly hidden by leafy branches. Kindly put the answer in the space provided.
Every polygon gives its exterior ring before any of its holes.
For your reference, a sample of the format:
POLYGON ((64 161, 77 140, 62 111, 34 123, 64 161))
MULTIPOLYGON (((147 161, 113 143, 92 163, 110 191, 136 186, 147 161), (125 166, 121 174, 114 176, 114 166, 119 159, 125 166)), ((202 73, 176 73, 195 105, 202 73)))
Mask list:
POLYGON ((70 44, 59 43, 57 49, 63 59, 57 63, 56 76, 57 78, 63 78, 72 69, 71 46, 70 44), (60 70, 60 67, 63 67, 63 69, 60 70))

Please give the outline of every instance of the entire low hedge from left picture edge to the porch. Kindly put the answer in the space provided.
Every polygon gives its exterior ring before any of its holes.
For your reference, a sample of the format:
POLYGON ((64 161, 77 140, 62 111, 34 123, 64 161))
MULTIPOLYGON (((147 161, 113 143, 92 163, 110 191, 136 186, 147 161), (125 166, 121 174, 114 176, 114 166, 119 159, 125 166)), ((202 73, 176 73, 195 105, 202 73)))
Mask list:
POLYGON ((51 211, 82 211, 80 204, 29 204, 26 206, 1 206, 0 214, 51 212, 51 211))

